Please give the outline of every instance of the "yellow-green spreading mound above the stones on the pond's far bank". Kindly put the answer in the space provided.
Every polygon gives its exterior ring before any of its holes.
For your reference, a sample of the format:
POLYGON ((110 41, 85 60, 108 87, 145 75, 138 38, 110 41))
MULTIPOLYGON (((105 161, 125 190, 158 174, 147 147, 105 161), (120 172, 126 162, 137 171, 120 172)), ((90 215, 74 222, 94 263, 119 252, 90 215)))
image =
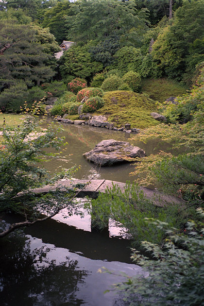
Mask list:
POLYGON ((146 128, 158 124, 150 116, 155 111, 156 105, 147 95, 131 91, 111 91, 103 96, 104 106, 97 114, 109 116, 108 120, 115 126, 124 126, 127 122, 131 127, 146 128))

